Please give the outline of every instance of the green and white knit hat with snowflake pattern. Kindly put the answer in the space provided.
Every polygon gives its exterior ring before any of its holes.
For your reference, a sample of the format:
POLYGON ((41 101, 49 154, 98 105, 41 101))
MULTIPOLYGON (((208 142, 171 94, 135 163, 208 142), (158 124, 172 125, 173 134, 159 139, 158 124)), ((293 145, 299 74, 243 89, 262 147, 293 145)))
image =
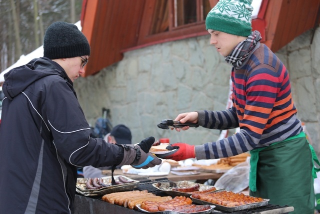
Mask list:
POLYGON ((242 37, 251 34, 252 0, 220 0, 208 13, 205 29, 242 37))

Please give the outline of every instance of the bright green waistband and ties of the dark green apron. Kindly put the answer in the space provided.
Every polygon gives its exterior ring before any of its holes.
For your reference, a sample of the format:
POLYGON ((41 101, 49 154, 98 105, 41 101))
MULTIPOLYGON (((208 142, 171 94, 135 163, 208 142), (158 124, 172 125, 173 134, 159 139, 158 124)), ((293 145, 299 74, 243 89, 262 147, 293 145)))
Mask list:
MULTIPOLYGON (((273 145, 276 145, 278 143, 283 143, 285 141, 288 141, 288 140, 292 140, 292 139, 295 139, 295 138, 299 138, 299 137, 306 137, 305 136, 305 133, 302 131, 300 132, 299 134, 293 136, 293 137, 288 137, 286 138, 285 140, 282 140, 280 142, 275 142, 275 143, 272 143, 270 144, 269 146, 273 146, 273 145)), ((309 144, 310 145, 310 144, 309 144)), ((251 154, 251 157, 250 157, 250 173, 249 173, 249 189, 253 192, 256 191, 256 166, 257 166, 257 163, 258 163, 258 159, 259 159, 259 152, 262 151, 263 149, 265 148, 268 148, 269 146, 265 146, 265 147, 262 147, 262 148, 256 148, 256 149, 252 149, 250 151, 250 154, 251 154)), ((311 152, 313 151, 314 155, 315 155, 315 152, 313 150, 313 148, 311 149, 311 152)), ((314 160, 314 156, 313 156, 313 153, 312 153, 312 158, 314 160)), ((316 155, 315 155, 315 158, 316 158, 316 161, 317 163, 319 162, 316 155)), ((320 164, 319 164, 320 165, 320 164)), ((320 169, 316 169, 315 167, 313 167, 313 170, 312 170, 312 176, 314 177, 314 174, 315 174, 315 177, 316 177, 316 173, 314 171, 320 171, 320 169), (314 173, 314 174, 313 174, 314 173)))

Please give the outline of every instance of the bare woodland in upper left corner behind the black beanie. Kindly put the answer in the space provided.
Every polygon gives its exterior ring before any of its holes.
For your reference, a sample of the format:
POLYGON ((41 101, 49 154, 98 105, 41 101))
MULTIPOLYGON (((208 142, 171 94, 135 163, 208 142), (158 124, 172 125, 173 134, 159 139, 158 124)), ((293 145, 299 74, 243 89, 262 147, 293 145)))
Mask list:
POLYGON ((0 72, 42 45, 56 21, 75 23, 82 0, 0 0, 0 72))

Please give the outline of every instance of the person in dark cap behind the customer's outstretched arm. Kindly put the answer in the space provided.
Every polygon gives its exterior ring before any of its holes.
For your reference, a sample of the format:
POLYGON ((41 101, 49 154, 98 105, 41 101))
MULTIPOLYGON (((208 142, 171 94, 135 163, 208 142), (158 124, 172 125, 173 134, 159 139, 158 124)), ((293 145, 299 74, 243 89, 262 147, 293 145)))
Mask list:
MULTIPOLYGON (((108 143, 113 144, 131 144, 131 131, 128 127, 123 124, 116 125, 112 128, 110 133, 104 136, 104 140, 108 143)), ((95 168, 93 166, 84 166, 83 177, 104 177, 106 175, 102 174, 102 170, 111 169, 112 166, 102 166, 95 168)), ((116 168, 120 168, 116 166, 116 168)))

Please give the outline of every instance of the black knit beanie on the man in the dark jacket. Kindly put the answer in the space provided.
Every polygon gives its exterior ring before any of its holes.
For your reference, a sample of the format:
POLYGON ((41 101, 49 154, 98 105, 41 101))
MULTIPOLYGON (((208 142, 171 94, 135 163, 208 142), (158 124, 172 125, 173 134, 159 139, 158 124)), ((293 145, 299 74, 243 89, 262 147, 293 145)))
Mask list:
POLYGON ((55 22, 45 31, 43 57, 51 60, 89 56, 90 46, 79 29, 70 23, 55 22))

